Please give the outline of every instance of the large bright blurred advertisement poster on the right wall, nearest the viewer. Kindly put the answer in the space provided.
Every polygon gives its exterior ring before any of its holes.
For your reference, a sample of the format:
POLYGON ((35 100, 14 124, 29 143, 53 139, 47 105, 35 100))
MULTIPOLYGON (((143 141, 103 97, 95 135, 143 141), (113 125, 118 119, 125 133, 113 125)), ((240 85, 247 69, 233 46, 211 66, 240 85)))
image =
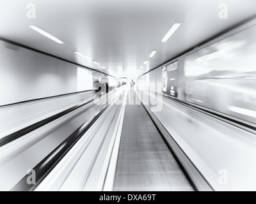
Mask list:
POLYGON ((185 59, 186 101, 256 123, 256 26, 185 59))

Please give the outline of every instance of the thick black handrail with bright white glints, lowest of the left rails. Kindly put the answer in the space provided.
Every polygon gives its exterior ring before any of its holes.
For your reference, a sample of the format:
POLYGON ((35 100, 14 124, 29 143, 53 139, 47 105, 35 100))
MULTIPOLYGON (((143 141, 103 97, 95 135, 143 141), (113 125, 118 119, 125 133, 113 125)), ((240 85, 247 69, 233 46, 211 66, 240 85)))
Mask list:
POLYGON ((88 131, 94 122, 102 115, 109 105, 104 105, 100 111, 93 117, 92 120, 84 122, 72 135, 62 142, 56 149, 54 149, 47 157, 45 157, 39 164, 33 168, 35 170, 36 183, 28 184, 27 180, 30 176, 27 174, 23 177, 10 191, 33 191, 45 177, 52 171, 52 169, 61 161, 67 152, 74 147, 77 141, 88 131))

